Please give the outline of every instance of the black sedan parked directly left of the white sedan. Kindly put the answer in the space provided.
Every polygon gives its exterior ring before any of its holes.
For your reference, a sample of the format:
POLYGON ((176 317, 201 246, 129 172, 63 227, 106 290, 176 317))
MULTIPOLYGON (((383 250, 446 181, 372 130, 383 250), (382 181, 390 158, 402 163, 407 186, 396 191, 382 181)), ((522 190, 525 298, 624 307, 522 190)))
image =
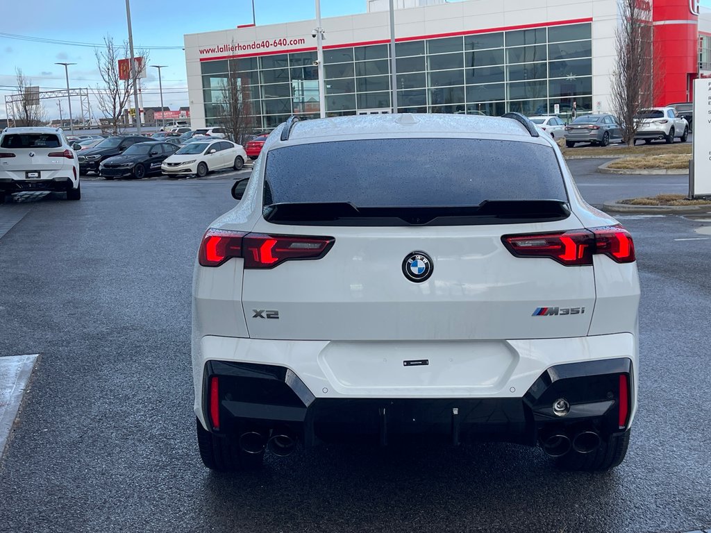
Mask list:
POLYGON ((144 142, 129 146, 120 156, 109 157, 99 167, 100 176, 141 179, 161 172, 163 160, 175 154, 178 146, 165 142, 144 142))

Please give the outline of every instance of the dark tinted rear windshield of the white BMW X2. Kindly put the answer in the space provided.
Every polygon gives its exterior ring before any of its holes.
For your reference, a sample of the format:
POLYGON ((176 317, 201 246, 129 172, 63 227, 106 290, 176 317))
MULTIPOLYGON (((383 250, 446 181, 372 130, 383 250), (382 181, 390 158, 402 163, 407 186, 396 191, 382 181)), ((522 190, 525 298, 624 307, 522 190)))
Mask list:
POLYGON ((469 207, 485 200, 562 200, 550 146, 483 139, 365 139, 269 152, 264 205, 469 207))

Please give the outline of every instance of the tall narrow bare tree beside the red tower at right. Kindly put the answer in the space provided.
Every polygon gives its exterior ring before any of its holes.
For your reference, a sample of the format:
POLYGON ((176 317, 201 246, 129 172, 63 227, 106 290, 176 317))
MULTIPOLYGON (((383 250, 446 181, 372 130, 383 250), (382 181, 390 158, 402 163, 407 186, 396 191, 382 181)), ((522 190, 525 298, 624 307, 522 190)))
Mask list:
POLYGON ((653 26, 638 0, 619 0, 620 24, 615 32, 617 66, 612 72, 611 109, 629 146, 641 125, 638 113, 653 104, 653 26))

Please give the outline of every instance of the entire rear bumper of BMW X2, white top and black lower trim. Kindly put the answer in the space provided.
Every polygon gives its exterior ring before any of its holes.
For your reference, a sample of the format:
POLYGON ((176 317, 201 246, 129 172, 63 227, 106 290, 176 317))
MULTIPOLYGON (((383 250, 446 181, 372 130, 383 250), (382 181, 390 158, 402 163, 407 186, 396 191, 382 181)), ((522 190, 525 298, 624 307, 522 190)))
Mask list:
POLYGON ((307 445, 354 436, 373 442, 383 431, 387 441, 417 435, 533 445, 542 431, 574 433, 592 425, 611 434, 634 419, 636 335, 501 343, 514 354, 506 365, 491 344, 474 345, 465 360, 446 346, 419 343, 432 348, 429 364, 407 366, 398 358, 400 343, 392 343, 388 362, 378 369, 383 359, 369 359, 367 343, 352 359, 343 350, 332 358, 338 343, 326 341, 193 338, 195 412, 214 431, 210 384, 217 378, 218 433, 287 426, 307 445), (493 350, 491 357, 484 350, 493 350), (620 375, 629 389, 623 426, 620 375), (571 405, 565 416, 552 412, 561 397, 571 405))

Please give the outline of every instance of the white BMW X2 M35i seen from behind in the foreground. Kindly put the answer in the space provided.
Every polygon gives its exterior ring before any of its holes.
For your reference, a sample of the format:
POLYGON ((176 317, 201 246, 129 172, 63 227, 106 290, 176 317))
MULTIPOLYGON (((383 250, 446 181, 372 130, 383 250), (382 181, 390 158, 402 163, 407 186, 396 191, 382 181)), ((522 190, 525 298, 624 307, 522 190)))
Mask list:
POLYGON ((215 470, 346 439, 623 460, 634 244, 520 114, 288 122, 193 281, 198 443, 215 470))

